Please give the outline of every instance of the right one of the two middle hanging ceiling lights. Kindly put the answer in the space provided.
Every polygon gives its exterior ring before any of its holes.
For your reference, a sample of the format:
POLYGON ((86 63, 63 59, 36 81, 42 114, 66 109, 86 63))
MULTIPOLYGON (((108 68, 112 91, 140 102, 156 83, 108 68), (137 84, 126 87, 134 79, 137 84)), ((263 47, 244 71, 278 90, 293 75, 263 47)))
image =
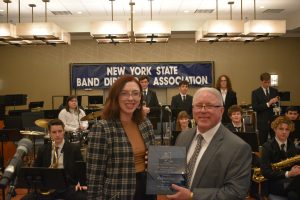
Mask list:
POLYGON ((171 36, 171 25, 165 21, 152 20, 152 1, 150 1, 150 18, 147 21, 135 21, 134 37, 138 43, 165 43, 171 36))

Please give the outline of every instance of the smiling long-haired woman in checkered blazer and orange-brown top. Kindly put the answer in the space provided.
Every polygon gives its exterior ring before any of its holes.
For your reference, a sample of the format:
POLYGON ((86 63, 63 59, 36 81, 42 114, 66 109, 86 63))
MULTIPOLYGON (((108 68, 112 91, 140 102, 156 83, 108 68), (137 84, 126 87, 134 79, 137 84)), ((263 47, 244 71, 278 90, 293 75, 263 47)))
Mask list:
POLYGON ((102 120, 89 133, 88 199, 155 199, 145 194, 145 155, 154 132, 141 109, 141 91, 131 75, 120 77, 110 89, 102 120))

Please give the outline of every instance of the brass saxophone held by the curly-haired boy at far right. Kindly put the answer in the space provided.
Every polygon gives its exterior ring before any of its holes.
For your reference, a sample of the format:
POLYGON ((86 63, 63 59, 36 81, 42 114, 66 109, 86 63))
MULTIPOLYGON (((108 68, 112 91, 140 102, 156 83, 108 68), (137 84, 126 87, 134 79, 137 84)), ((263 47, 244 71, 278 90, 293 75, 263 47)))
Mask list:
MULTIPOLYGON (((297 156, 288 158, 286 160, 280 161, 278 163, 273 163, 271 166, 272 166, 273 170, 281 170, 286 167, 291 167, 293 164, 295 164, 296 162, 299 162, 299 161, 300 161, 300 155, 297 155, 297 156)), ((261 168, 254 167, 252 181, 254 181, 256 183, 261 183, 265 180, 267 180, 267 179, 262 175, 261 168)))

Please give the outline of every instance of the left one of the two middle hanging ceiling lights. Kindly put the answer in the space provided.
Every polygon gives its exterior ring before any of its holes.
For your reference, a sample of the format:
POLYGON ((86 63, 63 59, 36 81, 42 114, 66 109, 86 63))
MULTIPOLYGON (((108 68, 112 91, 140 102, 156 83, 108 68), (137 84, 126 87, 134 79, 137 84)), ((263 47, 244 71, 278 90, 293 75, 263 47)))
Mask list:
POLYGON ((114 0, 111 2, 111 21, 95 21, 91 23, 91 36, 100 44, 130 42, 127 23, 114 21, 114 0))

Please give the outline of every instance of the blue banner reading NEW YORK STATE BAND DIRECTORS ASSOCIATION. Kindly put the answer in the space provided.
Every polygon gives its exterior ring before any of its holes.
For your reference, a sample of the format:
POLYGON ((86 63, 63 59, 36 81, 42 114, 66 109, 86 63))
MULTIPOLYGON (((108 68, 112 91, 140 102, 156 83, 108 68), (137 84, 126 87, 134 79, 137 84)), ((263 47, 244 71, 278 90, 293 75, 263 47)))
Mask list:
POLYGON ((109 88, 118 77, 132 74, 150 77, 150 87, 178 87, 182 80, 190 87, 213 85, 213 63, 71 64, 72 89, 109 88))

